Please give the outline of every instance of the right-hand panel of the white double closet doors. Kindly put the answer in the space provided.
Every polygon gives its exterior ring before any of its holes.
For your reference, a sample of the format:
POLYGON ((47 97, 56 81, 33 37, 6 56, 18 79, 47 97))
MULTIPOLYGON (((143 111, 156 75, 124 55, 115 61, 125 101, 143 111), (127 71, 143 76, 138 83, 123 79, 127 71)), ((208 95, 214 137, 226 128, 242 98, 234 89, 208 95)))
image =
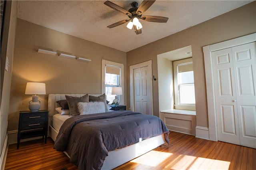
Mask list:
POLYGON ((232 48, 240 145, 256 148, 256 42, 232 48))

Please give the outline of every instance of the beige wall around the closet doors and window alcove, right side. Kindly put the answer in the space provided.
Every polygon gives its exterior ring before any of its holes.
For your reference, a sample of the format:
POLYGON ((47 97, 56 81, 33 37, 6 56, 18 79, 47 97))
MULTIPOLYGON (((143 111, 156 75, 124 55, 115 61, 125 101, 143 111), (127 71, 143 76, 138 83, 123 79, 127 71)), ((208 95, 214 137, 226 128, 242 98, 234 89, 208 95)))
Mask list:
MULTIPOLYGON (((157 77, 158 54, 192 45, 196 92, 196 122, 197 126, 208 127, 206 82, 202 47, 254 32, 256 32, 255 1, 202 24, 198 24, 156 42, 129 51, 127 53, 127 69, 129 69, 130 65, 152 60, 152 74, 157 77)), ((129 81, 130 75, 128 74, 127 82, 129 81)), ((130 101, 129 88, 127 91, 127 101, 130 101)), ((154 115, 159 116, 158 81, 153 81, 153 105, 154 115)))

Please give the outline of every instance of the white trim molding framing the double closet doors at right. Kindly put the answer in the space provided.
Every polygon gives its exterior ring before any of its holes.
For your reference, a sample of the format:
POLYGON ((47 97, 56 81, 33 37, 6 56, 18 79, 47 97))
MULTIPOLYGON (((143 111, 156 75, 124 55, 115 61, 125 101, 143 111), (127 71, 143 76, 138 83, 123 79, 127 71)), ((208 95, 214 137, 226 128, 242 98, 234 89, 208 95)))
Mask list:
MULTIPOLYGON (((212 45, 203 47, 204 51, 204 67, 206 77, 206 94, 207 94, 207 106, 208 106, 208 124, 209 124, 209 139, 217 141, 217 121, 216 121, 216 110, 215 110, 215 97, 214 97, 214 81, 212 71, 212 52, 220 49, 226 49, 246 43, 256 42, 256 33, 220 42, 212 45)), ((197 133, 196 133, 197 134, 197 133)))

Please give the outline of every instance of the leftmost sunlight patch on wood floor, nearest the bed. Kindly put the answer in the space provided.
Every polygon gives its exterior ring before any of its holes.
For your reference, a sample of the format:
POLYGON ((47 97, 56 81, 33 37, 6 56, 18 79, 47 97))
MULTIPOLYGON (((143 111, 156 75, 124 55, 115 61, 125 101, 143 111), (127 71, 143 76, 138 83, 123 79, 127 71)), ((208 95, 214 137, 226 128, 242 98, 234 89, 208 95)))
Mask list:
POLYGON ((131 160, 131 162, 156 167, 171 155, 172 153, 151 150, 150 152, 131 160))

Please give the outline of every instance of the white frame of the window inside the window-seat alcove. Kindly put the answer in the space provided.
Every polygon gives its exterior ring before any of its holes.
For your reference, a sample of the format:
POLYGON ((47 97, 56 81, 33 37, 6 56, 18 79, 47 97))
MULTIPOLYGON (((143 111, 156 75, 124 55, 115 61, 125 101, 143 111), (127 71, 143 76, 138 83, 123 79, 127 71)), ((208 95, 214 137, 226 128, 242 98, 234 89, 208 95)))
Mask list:
MULTIPOLYGON (((186 65, 186 64, 189 64, 189 63, 193 63, 192 58, 173 61, 174 109, 196 111, 196 103, 195 104, 181 104, 180 103, 179 85, 178 85, 178 65, 186 65)), ((192 83, 187 83, 187 84, 192 84, 192 83)))

